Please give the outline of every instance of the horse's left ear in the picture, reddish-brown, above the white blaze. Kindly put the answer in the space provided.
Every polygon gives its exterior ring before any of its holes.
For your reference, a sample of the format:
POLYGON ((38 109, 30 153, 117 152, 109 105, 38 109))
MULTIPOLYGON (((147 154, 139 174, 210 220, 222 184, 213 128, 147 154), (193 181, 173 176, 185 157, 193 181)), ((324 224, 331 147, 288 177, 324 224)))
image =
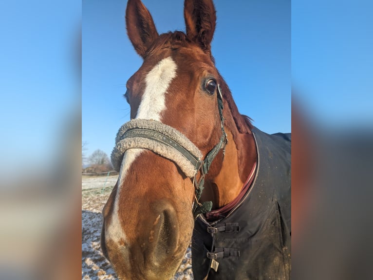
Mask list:
POLYGON ((153 41, 158 37, 158 32, 148 9, 141 0, 128 0, 126 26, 133 47, 141 57, 144 57, 153 41))

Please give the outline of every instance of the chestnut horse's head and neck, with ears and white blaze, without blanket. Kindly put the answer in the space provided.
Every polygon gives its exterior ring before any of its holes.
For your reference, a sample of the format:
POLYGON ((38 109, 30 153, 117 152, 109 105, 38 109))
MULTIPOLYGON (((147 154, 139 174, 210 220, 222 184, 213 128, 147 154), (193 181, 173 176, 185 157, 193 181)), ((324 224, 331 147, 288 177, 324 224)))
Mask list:
POLYGON ((127 146, 124 154, 118 148, 113 155, 119 178, 103 209, 101 235, 102 250, 123 279, 172 277, 192 236, 193 206, 212 201, 216 209, 230 202, 255 160, 249 120, 238 113, 211 55, 214 5, 211 0, 185 0, 184 16, 186 33, 159 35, 140 0, 127 4, 128 36, 143 64, 127 81, 132 126, 117 137, 127 146), (152 124, 159 127, 155 132, 152 124), (133 127, 137 130, 131 132, 133 127), (147 131, 152 139, 136 146, 133 137, 147 131), (195 163, 180 157, 180 151, 168 155, 167 146, 156 143, 154 137, 165 131, 167 140, 185 148, 195 163), (196 181, 201 182, 206 164, 201 160, 211 151, 214 160, 208 163, 198 201, 196 181))

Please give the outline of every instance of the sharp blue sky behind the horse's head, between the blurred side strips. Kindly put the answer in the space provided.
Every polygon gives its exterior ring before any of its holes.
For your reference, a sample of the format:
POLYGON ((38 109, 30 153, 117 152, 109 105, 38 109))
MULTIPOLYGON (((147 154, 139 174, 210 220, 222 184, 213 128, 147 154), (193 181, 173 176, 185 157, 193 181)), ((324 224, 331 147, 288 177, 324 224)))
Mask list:
MULTIPOLYGON (((144 0, 158 33, 185 31, 183 0, 144 0)), ((109 156, 130 110, 122 95, 140 67, 123 0, 82 2, 82 140, 109 156)), ((216 65, 242 114, 267 133, 291 131, 290 1, 215 0, 216 65)))

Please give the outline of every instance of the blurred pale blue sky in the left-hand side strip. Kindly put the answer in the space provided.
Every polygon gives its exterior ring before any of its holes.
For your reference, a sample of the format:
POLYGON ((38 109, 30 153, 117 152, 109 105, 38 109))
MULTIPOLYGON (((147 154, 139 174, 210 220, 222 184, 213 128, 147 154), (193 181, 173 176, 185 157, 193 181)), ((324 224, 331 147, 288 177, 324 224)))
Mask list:
POLYGON ((0 173, 50 166, 79 123, 80 17, 76 0, 1 1, 0 173))

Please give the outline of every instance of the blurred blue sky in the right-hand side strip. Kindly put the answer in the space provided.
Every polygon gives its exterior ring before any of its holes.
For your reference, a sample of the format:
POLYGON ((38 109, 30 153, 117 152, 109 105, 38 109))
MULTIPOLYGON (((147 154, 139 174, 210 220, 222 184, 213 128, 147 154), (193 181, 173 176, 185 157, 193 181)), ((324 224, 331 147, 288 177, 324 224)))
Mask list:
POLYGON ((373 126, 373 1, 292 1, 292 84, 317 126, 373 126))

